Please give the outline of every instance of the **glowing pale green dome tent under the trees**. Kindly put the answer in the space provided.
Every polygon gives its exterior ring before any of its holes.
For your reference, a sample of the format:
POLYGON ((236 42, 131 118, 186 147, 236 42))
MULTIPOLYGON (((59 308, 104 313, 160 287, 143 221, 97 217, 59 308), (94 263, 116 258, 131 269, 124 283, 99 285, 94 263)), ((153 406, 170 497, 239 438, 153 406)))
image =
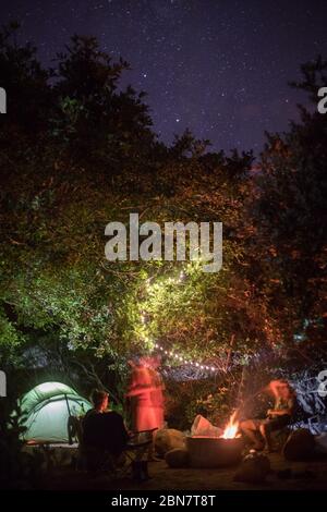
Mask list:
POLYGON ((86 413, 92 404, 64 383, 44 382, 24 394, 20 406, 25 441, 68 442, 69 416, 86 413))

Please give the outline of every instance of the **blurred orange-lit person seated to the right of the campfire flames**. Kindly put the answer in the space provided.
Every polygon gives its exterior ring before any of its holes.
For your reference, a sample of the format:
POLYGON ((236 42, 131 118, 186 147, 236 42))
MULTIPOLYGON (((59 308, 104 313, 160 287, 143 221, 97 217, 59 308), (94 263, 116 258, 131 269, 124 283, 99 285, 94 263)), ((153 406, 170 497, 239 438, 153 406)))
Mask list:
POLYGON ((279 430, 291 423, 295 404, 295 393, 287 380, 272 380, 267 390, 275 397, 274 409, 267 411, 265 419, 246 419, 241 422, 240 429, 254 443, 254 449, 272 451, 271 431, 279 430), (262 441, 258 439, 262 437, 262 441), (263 446, 264 441, 264 446, 263 446))

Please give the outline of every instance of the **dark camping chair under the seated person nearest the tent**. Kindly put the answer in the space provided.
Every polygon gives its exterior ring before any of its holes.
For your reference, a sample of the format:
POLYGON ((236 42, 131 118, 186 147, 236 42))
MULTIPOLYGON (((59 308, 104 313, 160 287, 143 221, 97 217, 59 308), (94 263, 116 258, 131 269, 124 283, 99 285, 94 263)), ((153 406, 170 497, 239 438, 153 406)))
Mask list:
POLYGON ((153 435, 157 428, 131 432, 126 447, 120 458, 108 450, 86 447, 83 442, 83 424, 81 417, 70 416, 68 419, 69 442, 78 442, 76 468, 89 473, 107 472, 116 478, 122 478, 132 470, 133 464, 142 461, 153 443, 153 435))

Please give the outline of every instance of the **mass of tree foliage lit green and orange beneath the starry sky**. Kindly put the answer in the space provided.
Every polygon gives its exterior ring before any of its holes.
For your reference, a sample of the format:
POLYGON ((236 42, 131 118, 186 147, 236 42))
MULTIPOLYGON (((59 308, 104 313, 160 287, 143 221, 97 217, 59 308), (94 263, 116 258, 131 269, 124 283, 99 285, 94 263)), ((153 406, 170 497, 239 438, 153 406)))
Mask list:
POLYGON ((94 38, 74 36, 47 70, 14 33, 0 37, 12 101, 0 120, 1 365, 38 354, 34 368, 46 359, 58 379, 101 383, 120 402, 126 361, 159 341, 221 373, 220 391, 190 385, 189 422, 197 410, 223 416, 235 395, 221 390, 241 378, 230 370, 258 354, 293 366, 325 354, 325 118, 303 111, 288 134, 269 135, 253 175, 252 153, 209 153, 189 131, 159 143, 144 95, 121 86, 128 63, 94 38), (161 228, 221 221, 222 270, 107 261, 105 227, 130 212, 161 228))

